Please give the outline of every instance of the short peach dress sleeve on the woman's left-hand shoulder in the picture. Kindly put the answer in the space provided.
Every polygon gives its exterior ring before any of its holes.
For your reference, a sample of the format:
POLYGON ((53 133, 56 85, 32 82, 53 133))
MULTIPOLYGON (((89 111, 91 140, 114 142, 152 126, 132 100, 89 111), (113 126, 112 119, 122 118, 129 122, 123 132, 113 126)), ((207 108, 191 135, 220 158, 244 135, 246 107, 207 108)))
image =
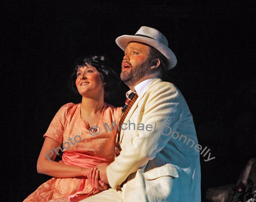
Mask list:
POLYGON ((44 134, 45 137, 52 138, 60 144, 63 143, 63 134, 65 129, 65 122, 67 120, 67 115, 69 110, 74 106, 74 103, 67 103, 63 105, 59 111, 56 113, 52 122, 50 123, 48 130, 44 134))

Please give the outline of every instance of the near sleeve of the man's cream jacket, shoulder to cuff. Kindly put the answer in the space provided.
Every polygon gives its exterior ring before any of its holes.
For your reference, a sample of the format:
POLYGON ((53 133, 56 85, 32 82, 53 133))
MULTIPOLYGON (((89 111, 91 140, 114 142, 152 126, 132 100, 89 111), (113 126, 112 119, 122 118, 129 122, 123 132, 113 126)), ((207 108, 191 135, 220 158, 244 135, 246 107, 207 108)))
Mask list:
MULTIPOLYGON (((109 185, 116 188, 127 177, 155 158, 171 138, 169 126, 174 132, 182 117, 183 96, 173 84, 161 82, 150 88, 140 104, 144 104, 141 123, 154 126, 155 130, 128 130, 121 143, 121 152, 114 162, 107 167, 109 185), (164 130, 163 130, 164 129, 164 130), (164 133, 164 134, 163 134, 164 133)), ((138 123, 135 123, 136 125, 138 123)))

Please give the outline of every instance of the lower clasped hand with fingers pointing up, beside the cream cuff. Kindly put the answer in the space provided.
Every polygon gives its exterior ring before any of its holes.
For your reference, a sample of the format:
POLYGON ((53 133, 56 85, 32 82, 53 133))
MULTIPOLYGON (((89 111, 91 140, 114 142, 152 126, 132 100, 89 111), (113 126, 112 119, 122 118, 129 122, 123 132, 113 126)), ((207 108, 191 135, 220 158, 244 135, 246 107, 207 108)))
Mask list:
MULTIPOLYGON (((99 170, 97 168, 91 168, 90 172, 87 174, 87 178, 89 181, 89 184, 91 184, 91 186, 99 191, 104 191, 106 190, 108 187, 107 184, 105 184, 103 181, 101 181, 99 179, 99 170)), ((93 194, 98 193, 98 191, 94 191, 93 194)))

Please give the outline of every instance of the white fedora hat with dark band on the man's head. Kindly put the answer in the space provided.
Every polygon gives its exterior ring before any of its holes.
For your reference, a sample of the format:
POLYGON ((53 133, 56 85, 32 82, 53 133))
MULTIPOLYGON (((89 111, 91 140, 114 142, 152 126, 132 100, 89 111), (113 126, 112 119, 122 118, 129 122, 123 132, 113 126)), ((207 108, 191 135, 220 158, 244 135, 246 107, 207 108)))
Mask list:
POLYGON ((117 45, 123 51, 131 41, 146 43, 159 50, 159 52, 161 52, 168 61, 168 69, 174 68, 177 64, 177 58, 172 50, 169 49, 166 37, 158 30, 142 26, 135 35, 122 35, 116 38, 117 45))

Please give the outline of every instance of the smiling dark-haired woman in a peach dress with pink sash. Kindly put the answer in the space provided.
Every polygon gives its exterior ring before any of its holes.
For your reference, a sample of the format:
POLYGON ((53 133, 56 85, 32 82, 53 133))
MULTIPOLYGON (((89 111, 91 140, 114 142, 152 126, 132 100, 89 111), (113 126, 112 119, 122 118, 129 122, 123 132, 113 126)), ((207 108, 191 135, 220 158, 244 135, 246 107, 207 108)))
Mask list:
POLYGON ((37 161, 37 171, 53 176, 30 194, 29 201, 80 201, 97 193, 86 178, 90 169, 114 160, 116 131, 106 130, 114 122, 117 127, 121 107, 104 102, 104 97, 119 79, 106 66, 105 58, 79 58, 72 74, 72 87, 82 95, 79 104, 60 108, 44 134, 44 145, 37 161), (61 148, 62 146, 62 148, 61 148), (54 161, 63 150, 62 160, 54 161))

